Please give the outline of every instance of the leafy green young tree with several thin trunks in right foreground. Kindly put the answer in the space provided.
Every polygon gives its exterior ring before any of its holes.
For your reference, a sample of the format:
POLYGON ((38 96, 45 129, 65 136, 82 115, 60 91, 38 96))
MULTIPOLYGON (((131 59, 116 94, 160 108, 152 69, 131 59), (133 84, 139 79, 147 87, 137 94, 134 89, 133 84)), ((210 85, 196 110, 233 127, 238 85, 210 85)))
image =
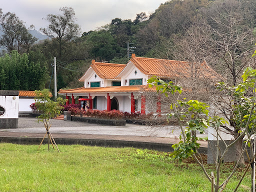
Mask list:
MULTIPOLYGON (((152 77, 148 79, 149 87, 153 85, 156 86, 156 90, 158 93, 163 93, 166 97, 170 96, 170 110, 171 112, 167 114, 167 118, 176 118, 178 121, 179 128, 181 130, 180 141, 177 144, 173 144, 174 152, 172 156, 179 161, 187 158, 189 156, 193 157, 195 161, 202 168, 205 176, 212 184, 212 188, 217 192, 219 190, 223 190, 228 180, 232 177, 233 173, 237 170, 239 165, 239 161, 243 156, 247 145, 251 150, 251 161, 255 158, 252 153, 251 146, 251 137, 255 132, 255 98, 256 98, 256 69, 252 69, 251 67, 246 68, 242 75, 243 81, 238 83, 237 86, 229 87, 233 92, 233 96, 236 99, 233 101, 234 103, 237 100, 244 100, 240 105, 236 104, 235 107, 237 109, 236 118, 240 122, 239 123, 239 136, 235 137, 232 142, 226 143, 224 139, 221 137, 220 126, 224 126, 228 123, 227 120, 219 117, 219 116, 210 116, 209 110, 207 109, 209 105, 204 102, 200 102, 198 100, 187 100, 186 98, 179 98, 178 95, 176 97, 175 94, 180 94, 182 92, 182 88, 178 85, 175 85, 172 81, 164 82, 163 80, 152 77), (250 95, 250 96, 248 96, 250 95), (244 111, 242 111, 244 110, 244 111), (242 112, 241 112, 242 111, 242 112), (198 153, 197 149, 199 148, 199 143, 197 142, 199 138, 193 134, 194 131, 199 131, 203 133, 205 128, 211 126, 216 131, 216 156, 214 159, 215 169, 216 169, 216 179, 214 180, 214 174, 208 174, 206 167, 203 164, 203 160, 198 153), (222 160, 226 155, 227 151, 230 149, 232 145, 234 145, 240 138, 243 138, 246 135, 245 146, 242 148, 242 152, 235 163, 233 171, 224 179, 224 181, 220 182, 220 169, 222 167, 222 160), (224 150, 220 151, 220 141, 225 146, 224 150)), ((224 83, 220 83, 220 88, 223 89, 224 83)), ((240 183, 239 183, 240 184, 240 183)), ((238 184, 238 185, 239 185, 238 184)), ((238 187, 237 185, 237 187, 238 187)), ((254 186, 253 186, 254 187, 254 186)))

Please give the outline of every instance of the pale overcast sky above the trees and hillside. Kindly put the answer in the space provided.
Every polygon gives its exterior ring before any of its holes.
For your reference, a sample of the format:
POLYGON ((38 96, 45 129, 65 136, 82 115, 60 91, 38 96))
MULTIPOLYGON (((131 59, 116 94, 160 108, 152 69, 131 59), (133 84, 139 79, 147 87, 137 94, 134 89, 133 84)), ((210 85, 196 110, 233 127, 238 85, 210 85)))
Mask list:
POLYGON ((81 31, 94 30, 110 23, 113 18, 131 19, 136 13, 153 12, 166 0, 0 0, 3 13, 15 12, 19 19, 35 26, 36 30, 46 27, 42 18, 48 13, 60 14, 60 7, 72 7, 81 31))

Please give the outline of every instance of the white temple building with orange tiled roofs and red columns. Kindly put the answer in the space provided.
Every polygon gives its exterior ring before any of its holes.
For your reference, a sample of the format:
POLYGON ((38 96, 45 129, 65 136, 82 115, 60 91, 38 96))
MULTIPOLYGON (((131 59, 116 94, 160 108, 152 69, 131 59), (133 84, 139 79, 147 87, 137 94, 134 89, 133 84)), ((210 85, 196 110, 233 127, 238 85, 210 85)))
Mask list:
MULTIPOLYGON (((216 78, 218 76, 205 62, 199 63, 199 66, 196 69, 199 77, 216 78)), ((60 89, 58 94, 66 96, 68 99, 66 104, 70 103, 70 97, 71 103, 79 97, 79 100, 88 100, 91 109, 140 111, 141 114, 145 114, 151 111, 146 106, 144 93, 155 92, 154 88, 147 86, 147 79, 157 76, 176 82, 180 77, 188 76, 191 72, 195 73, 194 70, 191 71, 191 63, 185 61, 137 57, 135 54, 132 54, 127 64, 92 60, 90 67, 79 79, 84 82, 84 86, 60 89)), ((160 113, 161 101, 156 99, 155 102, 155 112, 160 113)))

